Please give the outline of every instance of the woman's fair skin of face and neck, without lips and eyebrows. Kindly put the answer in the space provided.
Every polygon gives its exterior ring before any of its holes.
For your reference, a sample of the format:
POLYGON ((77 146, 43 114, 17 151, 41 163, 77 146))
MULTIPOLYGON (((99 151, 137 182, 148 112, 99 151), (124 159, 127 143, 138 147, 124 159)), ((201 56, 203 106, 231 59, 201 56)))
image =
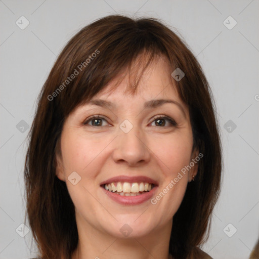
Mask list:
POLYGON ((73 259, 169 258, 172 219, 198 165, 156 204, 148 200, 139 205, 121 205, 105 194, 100 183, 120 175, 147 176, 158 182, 155 197, 198 155, 192 150, 188 107, 172 84, 170 73, 166 59, 157 57, 145 70, 135 96, 124 93, 127 76, 117 89, 109 91, 118 77, 93 98, 111 101, 116 108, 85 104, 66 119, 56 174, 66 182, 75 205, 79 241, 73 259), (153 99, 174 100, 182 109, 172 103, 144 109, 144 103, 153 99), (87 120, 93 115, 104 118, 98 121, 101 125, 87 120), (161 125, 156 115, 166 115, 177 125, 166 119, 161 125), (119 128, 125 119, 133 125, 128 133, 119 128), (83 124, 85 121, 87 124, 83 124), (76 185, 68 181, 73 171, 81 177, 76 185), (132 229, 128 237, 120 232, 124 224, 132 229))

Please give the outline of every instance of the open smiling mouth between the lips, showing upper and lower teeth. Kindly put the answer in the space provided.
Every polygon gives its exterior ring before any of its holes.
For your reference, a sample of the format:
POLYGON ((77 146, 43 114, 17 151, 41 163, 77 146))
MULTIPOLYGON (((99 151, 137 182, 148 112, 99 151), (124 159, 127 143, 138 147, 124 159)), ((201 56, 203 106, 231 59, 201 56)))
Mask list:
POLYGON ((102 187, 121 196, 138 196, 150 192, 155 185, 147 182, 111 182, 103 184, 102 187))

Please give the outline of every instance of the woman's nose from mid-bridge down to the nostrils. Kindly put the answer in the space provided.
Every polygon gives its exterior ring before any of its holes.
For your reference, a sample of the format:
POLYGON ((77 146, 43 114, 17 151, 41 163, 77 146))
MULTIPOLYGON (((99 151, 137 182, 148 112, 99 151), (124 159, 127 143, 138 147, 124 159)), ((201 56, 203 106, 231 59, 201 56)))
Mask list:
POLYGON ((128 166, 136 166, 147 163, 150 160, 150 150, 147 146, 144 134, 137 127, 133 127, 128 133, 119 130, 119 136, 115 139, 113 159, 116 163, 125 163, 128 166))

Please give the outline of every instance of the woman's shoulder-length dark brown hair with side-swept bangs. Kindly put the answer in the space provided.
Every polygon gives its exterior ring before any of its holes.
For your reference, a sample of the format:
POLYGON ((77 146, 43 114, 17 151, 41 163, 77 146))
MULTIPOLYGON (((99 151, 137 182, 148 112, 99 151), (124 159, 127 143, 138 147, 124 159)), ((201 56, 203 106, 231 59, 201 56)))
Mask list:
MULTIPOLYGON (((208 82, 187 45, 168 26, 152 18, 112 15, 82 28, 72 37, 38 97, 24 173, 27 217, 44 259, 70 258, 78 242, 73 202, 65 182, 55 174, 63 123, 71 111, 103 90, 122 69, 130 69, 143 53, 148 57, 143 69, 158 54, 168 59, 171 71, 184 71, 180 81, 172 80, 189 107, 194 147, 204 155, 196 179, 188 184, 174 215, 169 252, 179 259, 195 257, 197 246, 207 238, 222 169, 218 125, 208 82), (72 74, 76 75, 72 78, 72 74)), ((134 93, 137 83, 130 90, 134 93)))

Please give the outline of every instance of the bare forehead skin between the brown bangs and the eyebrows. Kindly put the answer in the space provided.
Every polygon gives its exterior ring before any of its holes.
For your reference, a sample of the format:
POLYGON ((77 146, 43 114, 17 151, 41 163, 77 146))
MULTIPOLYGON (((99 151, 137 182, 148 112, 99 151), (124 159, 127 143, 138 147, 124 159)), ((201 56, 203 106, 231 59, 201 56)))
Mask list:
POLYGON ((182 102, 165 57, 155 57, 145 70, 140 66, 140 63, 135 61, 130 71, 124 70, 117 75, 93 99, 101 98, 125 103, 133 100, 174 98, 182 102))

